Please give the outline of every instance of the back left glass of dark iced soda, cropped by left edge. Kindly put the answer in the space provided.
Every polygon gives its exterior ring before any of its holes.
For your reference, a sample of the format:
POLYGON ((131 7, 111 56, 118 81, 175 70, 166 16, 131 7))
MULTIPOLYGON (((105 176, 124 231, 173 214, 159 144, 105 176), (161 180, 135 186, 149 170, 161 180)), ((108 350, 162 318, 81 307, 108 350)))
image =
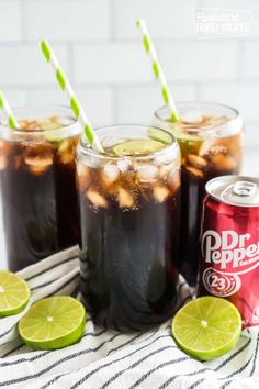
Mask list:
POLYGON ((19 129, 0 123, 0 196, 8 265, 14 271, 78 243, 80 125, 66 107, 13 112, 19 129))

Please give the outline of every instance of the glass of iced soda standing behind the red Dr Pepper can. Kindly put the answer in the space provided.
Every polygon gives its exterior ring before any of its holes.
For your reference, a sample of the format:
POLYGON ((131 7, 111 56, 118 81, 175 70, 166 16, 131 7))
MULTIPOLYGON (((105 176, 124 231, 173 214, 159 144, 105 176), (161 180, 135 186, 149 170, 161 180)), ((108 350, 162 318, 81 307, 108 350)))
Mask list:
POLYGON ((217 103, 179 103, 180 122, 168 109, 155 112, 155 123, 170 131, 181 149, 181 222, 178 269, 196 282, 199 236, 205 184, 214 177, 240 173, 244 123, 234 108, 217 103))

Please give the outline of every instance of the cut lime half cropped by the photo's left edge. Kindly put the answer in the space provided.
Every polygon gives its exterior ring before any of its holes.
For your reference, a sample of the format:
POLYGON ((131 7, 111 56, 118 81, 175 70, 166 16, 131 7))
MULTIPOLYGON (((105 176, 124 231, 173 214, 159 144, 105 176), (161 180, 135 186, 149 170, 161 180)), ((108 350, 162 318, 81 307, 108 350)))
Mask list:
POLYGON ((21 312, 30 299, 27 284, 11 271, 0 271, 0 316, 21 312))

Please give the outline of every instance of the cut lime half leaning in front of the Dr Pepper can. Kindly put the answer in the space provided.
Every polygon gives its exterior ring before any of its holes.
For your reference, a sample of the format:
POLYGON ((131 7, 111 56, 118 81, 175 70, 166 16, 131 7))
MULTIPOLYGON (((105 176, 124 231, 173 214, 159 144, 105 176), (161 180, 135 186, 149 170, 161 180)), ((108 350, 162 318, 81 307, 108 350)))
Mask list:
POLYGON ((240 332, 241 316, 236 307, 216 297, 192 300, 172 320, 172 335, 179 347, 201 360, 228 353, 240 332))

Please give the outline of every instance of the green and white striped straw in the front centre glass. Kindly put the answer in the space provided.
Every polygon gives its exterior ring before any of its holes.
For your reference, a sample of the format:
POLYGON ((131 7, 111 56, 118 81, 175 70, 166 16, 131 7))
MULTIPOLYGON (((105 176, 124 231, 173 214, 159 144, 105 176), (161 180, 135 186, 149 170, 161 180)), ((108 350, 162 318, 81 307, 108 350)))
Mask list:
POLYGON ((94 151, 97 151, 98 153, 104 153, 104 149, 103 149, 100 141, 98 140, 98 137, 93 131, 93 127, 87 118, 86 112, 82 110, 82 107, 79 103, 79 100, 76 97, 70 82, 68 81, 67 77, 65 76, 65 74, 57 60, 56 55, 54 54, 50 45, 48 44, 48 42, 46 40, 43 40, 41 42, 41 48, 42 48, 42 52, 43 52, 47 63, 50 64, 50 66, 53 67, 54 71, 56 74, 56 79, 58 81, 59 87, 67 95, 67 97, 70 101, 70 107, 71 107, 76 118, 78 119, 78 121, 82 125, 83 132, 85 132, 87 140, 90 143, 91 147, 94 151))

